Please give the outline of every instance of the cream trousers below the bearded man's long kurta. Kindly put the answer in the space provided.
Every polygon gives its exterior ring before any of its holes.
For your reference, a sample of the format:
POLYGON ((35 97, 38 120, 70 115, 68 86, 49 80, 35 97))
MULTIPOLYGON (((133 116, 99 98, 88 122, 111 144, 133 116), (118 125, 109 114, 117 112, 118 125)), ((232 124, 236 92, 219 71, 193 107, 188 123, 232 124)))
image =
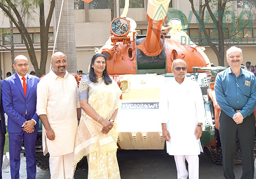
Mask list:
POLYGON ((51 179, 73 179, 75 166, 73 166, 74 153, 49 158, 51 179))

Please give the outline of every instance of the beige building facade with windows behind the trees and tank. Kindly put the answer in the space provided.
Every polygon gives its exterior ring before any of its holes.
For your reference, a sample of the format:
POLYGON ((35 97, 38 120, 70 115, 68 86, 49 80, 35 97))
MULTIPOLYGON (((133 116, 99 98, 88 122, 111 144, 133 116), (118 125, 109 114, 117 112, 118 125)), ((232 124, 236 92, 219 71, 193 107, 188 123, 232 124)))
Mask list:
MULTIPOLYGON (((147 31, 147 1, 148 0, 129 0, 129 10, 127 17, 132 18, 137 23, 137 33, 146 34, 147 31)), ((196 10, 199 7, 199 0, 194 0, 196 4, 196 10)), ((256 16, 255 7, 251 9, 246 4, 242 4, 243 1, 232 1, 228 3, 229 11, 235 12, 236 16, 241 15, 242 12, 252 12, 252 26, 249 23, 248 26, 243 26, 242 31, 232 38, 228 38, 225 42, 228 46, 237 45, 243 50, 243 64, 246 61, 251 61, 252 65, 256 64, 256 59, 254 58, 254 52, 256 50, 256 16)), ((110 23, 112 20, 111 13, 114 10, 114 17, 119 17, 125 5, 125 0, 115 0, 114 7, 111 10, 111 0, 93 0, 90 3, 86 3, 81 0, 74 0, 74 11, 75 11, 75 41, 76 41, 76 56, 77 56, 77 66, 78 70, 83 70, 86 74, 88 71, 88 65, 90 63, 91 57, 95 54, 95 50, 100 49, 105 42, 111 36, 110 34, 110 23)), ((48 7, 47 1, 45 1, 46 10, 48 7)), ((199 35, 199 23, 197 23, 196 17, 191 10, 191 4, 189 0, 171 0, 169 8, 181 10, 185 13, 188 20, 188 29, 186 29, 187 34, 190 36, 194 43, 198 41, 199 35)), ((214 5, 212 5, 213 12, 214 5)), ((207 13, 206 13, 207 14, 207 13)), ((206 15, 207 16, 207 15, 206 15)), ((0 28, 6 28, 8 30, 9 19, 0 12, 0 21, 2 21, 0 28)), ((242 16, 241 16, 242 18, 242 16)), ((250 17, 251 18, 251 17, 250 17)), ((39 16, 34 13, 34 21, 29 22, 28 31, 33 39, 34 47, 36 50, 37 58, 40 59, 40 27, 39 27, 39 16)), ((48 48, 48 60, 46 64, 46 73, 50 68, 51 55, 53 51, 53 42, 56 34, 56 24, 55 14, 52 18, 50 33, 49 33, 49 48, 48 48)), ((232 26, 232 15, 227 16, 227 24, 232 26)), ((212 37, 213 43, 216 43, 217 32, 214 29, 214 23, 211 21, 207 22, 207 17, 205 17, 205 28, 208 31, 210 37, 212 37)), ((227 26, 227 30, 229 27, 227 26)), ((3 37, 2 45, 9 47, 8 35, 3 37)), ((210 48, 208 42, 203 40, 203 47, 205 47, 205 53, 209 57, 213 65, 218 65, 217 57, 213 50, 210 48)), ((23 54, 28 57, 27 49, 25 44, 19 34, 17 28, 14 27, 14 47, 15 56, 18 54, 23 54)), ((228 65, 225 60, 225 65, 228 65)), ((2 71, 2 78, 6 77, 8 71, 12 71, 11 53, 5 48, 0 48, 0 67, 2 71)), ((33 66, 30 64, 30 70, 33 70, 33 66)))

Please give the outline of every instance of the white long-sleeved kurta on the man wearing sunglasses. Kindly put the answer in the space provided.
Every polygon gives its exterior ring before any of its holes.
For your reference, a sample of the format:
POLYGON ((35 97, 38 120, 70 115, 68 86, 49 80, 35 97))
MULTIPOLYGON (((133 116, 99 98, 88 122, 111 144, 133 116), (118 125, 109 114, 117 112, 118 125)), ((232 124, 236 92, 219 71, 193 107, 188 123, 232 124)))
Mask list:
POLYGON ((166 141, 170 155, 198 155, 202 151, 195 129, 205 117, 202 92, 199 84, 185 77, 182 84, 175 78, 161 90, 161 123, 167 123, 170 142, 166 141))

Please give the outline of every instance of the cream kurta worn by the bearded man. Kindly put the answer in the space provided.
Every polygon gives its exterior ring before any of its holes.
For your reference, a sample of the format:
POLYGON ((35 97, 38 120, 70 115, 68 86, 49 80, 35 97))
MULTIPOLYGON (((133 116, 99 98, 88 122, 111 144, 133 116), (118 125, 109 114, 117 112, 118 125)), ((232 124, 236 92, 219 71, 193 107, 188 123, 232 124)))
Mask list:
POLYGON ((75 78, 67 71, 58 77, 53 71, 45 75, 37 86, 37 114, 47 115, 55 132, 50 141, 43 128, 43 153, 52 156, 72 153, 77 130, 76 108, 79 108, 78 88, 75 78))

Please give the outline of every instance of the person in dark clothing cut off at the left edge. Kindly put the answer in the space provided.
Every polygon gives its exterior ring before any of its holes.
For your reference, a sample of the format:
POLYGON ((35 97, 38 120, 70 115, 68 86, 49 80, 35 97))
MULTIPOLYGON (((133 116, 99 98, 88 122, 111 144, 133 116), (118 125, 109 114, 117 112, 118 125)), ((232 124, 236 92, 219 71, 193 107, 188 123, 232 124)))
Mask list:
MULTIPOLYGON (((6 134, 5 118, 4 118, 3 105, 2 105, 2 86, 3 86, 3 81, 0 80, 0 167, 1 168, 3 163, 3 148, 4 148, 5 134, 6 134)), ((0 179, 2 179, 2 170, 0 170, 0 179)))

